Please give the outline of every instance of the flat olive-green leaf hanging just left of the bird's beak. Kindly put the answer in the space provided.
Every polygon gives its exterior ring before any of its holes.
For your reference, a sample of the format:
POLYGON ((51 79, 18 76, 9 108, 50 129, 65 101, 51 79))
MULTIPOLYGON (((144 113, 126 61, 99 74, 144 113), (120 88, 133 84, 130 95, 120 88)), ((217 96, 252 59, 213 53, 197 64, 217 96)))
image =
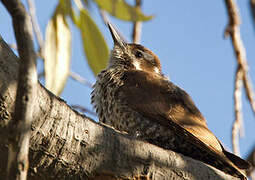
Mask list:
POLYGON ((77 25, 81 31, 84 52, 90 68, 97 75, 107 65, 109 49, 103 35, 86 9, 80 11, 79 20, 77 25))

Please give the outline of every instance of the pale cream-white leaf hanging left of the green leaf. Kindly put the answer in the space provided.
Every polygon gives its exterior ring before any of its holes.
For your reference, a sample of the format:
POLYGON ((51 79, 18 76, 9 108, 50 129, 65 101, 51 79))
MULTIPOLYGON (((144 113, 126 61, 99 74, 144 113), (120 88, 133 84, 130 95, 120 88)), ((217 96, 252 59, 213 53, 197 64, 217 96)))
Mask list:
POLYGON ((46 28, 45 85, 60 95, 69 76, 71 57, 71 32, 63 8, 57 7, 46 28))

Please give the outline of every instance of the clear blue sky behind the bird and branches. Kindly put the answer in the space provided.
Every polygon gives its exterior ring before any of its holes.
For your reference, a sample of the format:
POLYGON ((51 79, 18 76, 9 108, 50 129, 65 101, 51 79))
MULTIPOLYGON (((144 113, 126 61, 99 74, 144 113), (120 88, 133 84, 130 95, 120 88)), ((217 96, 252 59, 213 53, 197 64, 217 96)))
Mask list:
MULTIPOLYGON (((23 1, 24 2, 24 1, 23 1)), ((58 1, 36 1, 39 25, 43 33, 58 1)), ((241 34, 247 51, 250 77, 255 84, 255 29, 249 11, 249 1, 238 3, 241 34)), ((143 23, 141 44, 161 59, 162 69, 175 84, 185 89, 195 101, 208 122, 209 128, 231 150, 231 126, 234 120, 233 87, 236 59, 230 39, 223 34, 228 23, 224 1, 152 1, 143 3, 143 11, 155 15, 143 23)), ((95 5, 91 15, 103 32, 110 48, 110 33, 100 19, 95 5)), ((132 24, 111 17, 112 22, 130 40, 132 24)), ((11 19, 0 3, 0 34, 8 43, 15 43, 11 19)), ((72 70, 95 82, 89 69, 79 31, 71 26, 72 70)), ((38 63, 41 71, 42 65, 38 63)), ((255 85, 254 85, 255 86, 255 85)), ((68 104, 79 104, 89 109, 91 89, 71 79, 61 97, 68 104)), ((244 94, 244 92, 243 92, 244 94)), ((245 137, 240 140, 241 155, 245 157, 254 146, 255 117, 243 95, 245 137)), ((95 118, 94 118, 95 119, 95 118)))

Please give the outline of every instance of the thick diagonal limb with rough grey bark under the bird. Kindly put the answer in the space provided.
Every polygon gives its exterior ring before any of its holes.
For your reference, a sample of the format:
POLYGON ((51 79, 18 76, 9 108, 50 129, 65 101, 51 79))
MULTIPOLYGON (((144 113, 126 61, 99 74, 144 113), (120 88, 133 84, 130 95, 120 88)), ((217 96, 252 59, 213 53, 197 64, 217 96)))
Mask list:
MULTIPOLYGON (((0 38, 0 179, 18 59, 0 38)), ((236 179, 202 162, 134 140, 72 110, 38 83, 28 179, 236 179)))

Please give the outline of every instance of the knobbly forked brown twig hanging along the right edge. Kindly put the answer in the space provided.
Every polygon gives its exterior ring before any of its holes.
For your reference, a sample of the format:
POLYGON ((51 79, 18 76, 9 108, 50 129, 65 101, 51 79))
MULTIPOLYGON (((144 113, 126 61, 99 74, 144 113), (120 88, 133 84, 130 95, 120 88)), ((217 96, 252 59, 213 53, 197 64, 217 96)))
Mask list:
MULTIPOLYGON (((234 152, 238 152, 237 147, 234 147, 238 143, 235 143, 234 141, 237 141, 237 137, 234 134, 237 134, 238 129, 240 130, 240 126, 242 125, 242 119, 240 116, 241 108, 241 98, 237 96, 241 96, 241 87, 242 83, 240 81, 242 80, 244 85, 245 85, 245 92, 248 97, 248 100, 253 108, 253 111, 255 112, 255 105, 253 102, 253 91, 252 91, 252 86, 248 78, 248 65, 247 65, 247 60, 246 60, 246 52, 245 48, 243 46, 243 42, 241 39, 240 35, 240 17, 239 17, 239 12, 238 12, 238 7, 236 5, 235 0, 225 0, 227 10, 228 10, 228 16, 229 16, 229 24, 226 28, 225 35, 228 36, 230 35, 232 39, 232 45, 235 51, 236 55, 236 60, 238 63, 238 69, 236 73, 236 81, 235 81, 235 114, 236 114, 236 119, 233 123, 233 128, 232 128, 232 144, 233 144, 233 149, 234 152), (238 88, 238 89, 237 89, 238 88), (239 102, 238 102, 239 101, 239 102), (239 126, 239 128, 238 128, 239 126)), ((235 153, 236 153, 235 152, 235 153)))

